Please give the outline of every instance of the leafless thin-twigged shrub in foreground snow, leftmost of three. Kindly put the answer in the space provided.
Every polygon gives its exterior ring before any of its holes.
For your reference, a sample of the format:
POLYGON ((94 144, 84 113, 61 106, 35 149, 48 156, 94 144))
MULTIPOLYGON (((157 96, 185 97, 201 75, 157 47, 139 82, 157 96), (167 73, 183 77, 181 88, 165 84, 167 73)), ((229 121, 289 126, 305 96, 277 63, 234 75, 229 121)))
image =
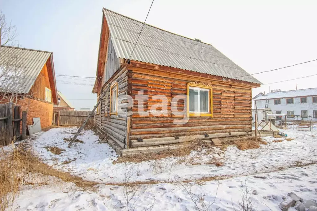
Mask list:
MULTIPOLYGON (((135 203, 139 198, 146 192, 148 185, 142 187, 142 185, 129 185, 131 177, 136 173, 133 169, 127 170, 124 172, 124 183, 125 185, 122 188, 123 196, 126 201, 126 209, 132 211, 135 209, 135 203)), ((152 210, 155 204, 155 197, 153 197, 153 203, 148 204, 145 208, 145 211, 152 210)))

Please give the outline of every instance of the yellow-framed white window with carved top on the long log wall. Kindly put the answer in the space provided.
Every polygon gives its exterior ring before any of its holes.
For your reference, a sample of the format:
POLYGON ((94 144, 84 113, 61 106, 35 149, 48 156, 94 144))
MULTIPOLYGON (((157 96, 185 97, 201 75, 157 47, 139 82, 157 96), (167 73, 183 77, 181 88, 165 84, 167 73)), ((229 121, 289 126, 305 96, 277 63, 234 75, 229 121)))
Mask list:
POLYGON ((187 116, 212 117, 212 88, 187 84, 187 116))

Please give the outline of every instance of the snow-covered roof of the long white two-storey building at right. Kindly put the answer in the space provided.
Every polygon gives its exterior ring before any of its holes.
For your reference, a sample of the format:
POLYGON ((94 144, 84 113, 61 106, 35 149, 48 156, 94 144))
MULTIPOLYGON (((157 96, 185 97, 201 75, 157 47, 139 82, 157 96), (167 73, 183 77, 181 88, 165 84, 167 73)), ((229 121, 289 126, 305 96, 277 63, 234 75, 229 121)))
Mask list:
POLYGON ((317 88, 290 90, 290 91, 281 91, 281 92, 270 92, 264 96, 257 97, 255 100, 301 97, 301 96, 317 96, 317 88))

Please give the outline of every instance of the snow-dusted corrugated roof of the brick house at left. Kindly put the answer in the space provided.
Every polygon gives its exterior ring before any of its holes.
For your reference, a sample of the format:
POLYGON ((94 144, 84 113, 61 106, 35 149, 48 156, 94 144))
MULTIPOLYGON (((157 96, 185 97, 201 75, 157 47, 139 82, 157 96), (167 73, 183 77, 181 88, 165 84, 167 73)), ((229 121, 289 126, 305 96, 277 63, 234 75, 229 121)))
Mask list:
POLYGON ((29 93, 51 52, 1 46, 0 92, 29 93))

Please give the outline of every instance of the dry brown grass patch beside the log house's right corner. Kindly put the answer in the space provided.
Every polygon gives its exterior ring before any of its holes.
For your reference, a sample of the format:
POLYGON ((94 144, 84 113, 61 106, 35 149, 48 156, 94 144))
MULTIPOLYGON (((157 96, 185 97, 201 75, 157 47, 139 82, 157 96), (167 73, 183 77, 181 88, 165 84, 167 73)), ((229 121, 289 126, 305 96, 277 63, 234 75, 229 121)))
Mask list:
POLYGON ((221 149, 226 149, 227 146, 235 145, 240 150, 247 150, 247 149, 257 149, 260 148, 261 144, 267 145, 268 143, 262 138, 257 138, 255 140, 254 137, 247 137, 242 139, 228 139, 226 141, 222 141, 223 146, 221 149))

